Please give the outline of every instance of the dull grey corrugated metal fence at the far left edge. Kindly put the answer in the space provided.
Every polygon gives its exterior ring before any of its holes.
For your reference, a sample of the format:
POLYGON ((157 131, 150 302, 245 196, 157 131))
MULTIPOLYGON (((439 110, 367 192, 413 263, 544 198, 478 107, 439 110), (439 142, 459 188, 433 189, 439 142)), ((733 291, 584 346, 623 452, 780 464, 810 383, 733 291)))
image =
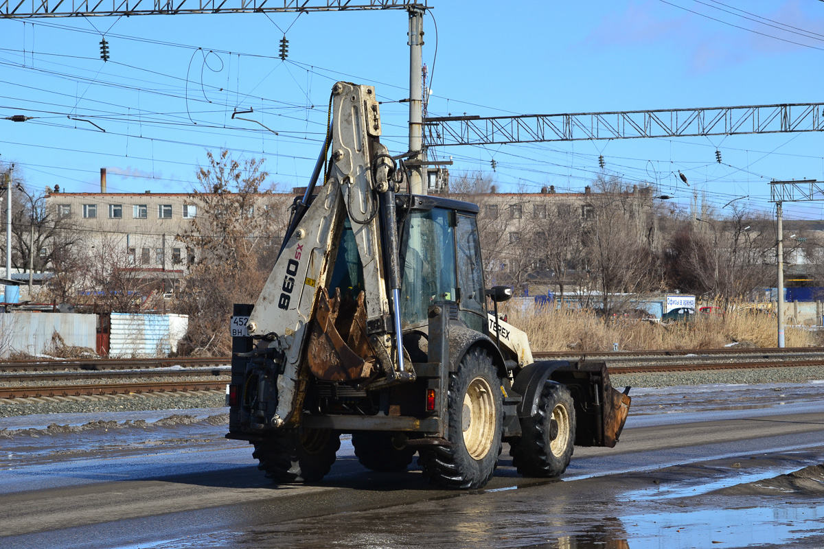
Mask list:
POLYGON ((67 347, 88 347, 94 352, 96 314, 8 313, 0 314, 0 357, 10 352, 48 355, 59 334, 67 347))

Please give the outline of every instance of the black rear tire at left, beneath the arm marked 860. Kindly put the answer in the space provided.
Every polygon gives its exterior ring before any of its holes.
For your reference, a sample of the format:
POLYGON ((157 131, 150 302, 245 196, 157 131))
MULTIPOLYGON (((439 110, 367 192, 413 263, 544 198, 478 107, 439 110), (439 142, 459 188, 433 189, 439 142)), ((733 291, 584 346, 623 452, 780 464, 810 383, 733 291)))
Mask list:
POLYGON ((340 435, 327 429, 284 430, 252 444, 258 468, 274 482, 318 482, 335 463, 340 435))

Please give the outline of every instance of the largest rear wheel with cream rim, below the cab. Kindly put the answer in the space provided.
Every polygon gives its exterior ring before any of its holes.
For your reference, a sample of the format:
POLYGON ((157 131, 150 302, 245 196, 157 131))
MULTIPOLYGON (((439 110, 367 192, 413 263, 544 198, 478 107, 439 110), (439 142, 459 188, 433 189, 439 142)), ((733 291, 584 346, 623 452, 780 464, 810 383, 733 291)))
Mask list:
POLYGON ((419 465, 430 482, 445 488, 481 488, 489 482, 501 453, 503 395, 492 358, 472 349, 449 375, 447 395, 450 446, 420 451, 419 465))

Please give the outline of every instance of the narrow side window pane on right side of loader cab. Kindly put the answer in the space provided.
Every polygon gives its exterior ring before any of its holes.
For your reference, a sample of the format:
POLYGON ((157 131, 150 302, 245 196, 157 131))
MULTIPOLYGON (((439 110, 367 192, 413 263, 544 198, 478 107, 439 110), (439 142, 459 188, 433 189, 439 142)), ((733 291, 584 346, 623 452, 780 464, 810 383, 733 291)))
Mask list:
POLYGON ((481 263, 475 217, 458 215, 456 228, 458 286, 461 288, 461 319, 470 328, 483 331, 484 269, 481 263), (470 314, 464 314, 467 311, 470 314))

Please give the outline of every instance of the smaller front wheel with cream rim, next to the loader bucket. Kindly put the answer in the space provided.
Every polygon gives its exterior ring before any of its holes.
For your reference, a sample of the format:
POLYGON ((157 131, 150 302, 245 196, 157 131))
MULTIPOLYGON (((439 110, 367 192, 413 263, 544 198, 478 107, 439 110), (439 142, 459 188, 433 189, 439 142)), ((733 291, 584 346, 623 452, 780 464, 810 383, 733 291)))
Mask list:
POLYGON ((569 389, 547 381, 536 415, 521 418, 522 435, 509 454, 525 477, 558 477, 569 466, 575 445, 575 406, 569 389))

